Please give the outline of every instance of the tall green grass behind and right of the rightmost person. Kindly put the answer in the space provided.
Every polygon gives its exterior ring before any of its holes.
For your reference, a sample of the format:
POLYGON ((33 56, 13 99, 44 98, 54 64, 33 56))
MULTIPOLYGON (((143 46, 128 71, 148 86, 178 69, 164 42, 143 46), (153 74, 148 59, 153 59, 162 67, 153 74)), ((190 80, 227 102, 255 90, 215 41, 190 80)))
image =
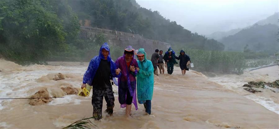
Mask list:
POLYGON ((192 70, 210 71, 223 73, 243 73, 248 67, 242 53, 225 51, 206 51, 197 49, 180 48, 176 52, 179 55, 180 50, 184 50, 190 56, 194 63, 192 70))

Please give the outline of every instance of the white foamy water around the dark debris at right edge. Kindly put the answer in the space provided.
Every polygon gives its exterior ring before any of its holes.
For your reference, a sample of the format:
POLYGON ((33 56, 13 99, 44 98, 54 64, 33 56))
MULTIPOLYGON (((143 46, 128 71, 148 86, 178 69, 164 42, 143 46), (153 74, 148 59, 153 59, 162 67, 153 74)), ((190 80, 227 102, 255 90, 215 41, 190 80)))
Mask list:
MULTIPOLYGON (((237 93, 244 93, 246 92, 241 88, 244 84, 248 84, 249 81, 265 81, 265 82, 272 82, 278 78, 278 67, 268 67, 264 69, 259 69, 255 71, 245 72, 242 75, 235 75, 235 74, 226 74, 222 76, 216 77, 209 77, 210 81, 216 82, 220 85, 223 85, 225 88, 229 90, 236 91, 237 93)), ((278 89, 269 88, 275 90, 276 92, 278 89)), ((272 93, 273 94, 273 93, 272 93)), ((274 93, 277 94, 277 93, 274 93)), ((274 103, 271 98, 261 97, 254 94, 246 95, 247 99, 251 99, 254 102, 261 104, 268 110, 279 114, 279 105, 274 103)))

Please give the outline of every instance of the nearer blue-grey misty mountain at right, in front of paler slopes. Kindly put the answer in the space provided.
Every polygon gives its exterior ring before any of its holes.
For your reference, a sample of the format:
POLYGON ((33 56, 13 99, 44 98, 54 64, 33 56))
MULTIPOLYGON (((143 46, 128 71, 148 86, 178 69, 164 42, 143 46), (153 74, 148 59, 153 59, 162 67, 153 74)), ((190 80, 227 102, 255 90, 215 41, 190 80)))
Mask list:
POLYGON ((250 28, 243 29, 235 35, 230 35, 220 40, 225 45, 225 50, 243 51, 246 44, 253 51, 278 50, 278 26, 273 24, 258 25, 255 24, 250 28))

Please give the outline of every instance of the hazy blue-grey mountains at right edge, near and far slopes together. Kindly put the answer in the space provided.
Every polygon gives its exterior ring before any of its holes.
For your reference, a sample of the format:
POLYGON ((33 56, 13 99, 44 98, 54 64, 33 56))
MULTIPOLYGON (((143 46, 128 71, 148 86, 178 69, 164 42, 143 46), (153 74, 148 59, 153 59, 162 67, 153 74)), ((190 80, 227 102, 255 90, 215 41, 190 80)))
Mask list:
POLYGON ((273 55, 279 50, 278 19, 279 13, 276 12, 254 25, 227 32, 216 32, 209 37, 223 43, 225 50, 228 51, 261 51, 273 55))

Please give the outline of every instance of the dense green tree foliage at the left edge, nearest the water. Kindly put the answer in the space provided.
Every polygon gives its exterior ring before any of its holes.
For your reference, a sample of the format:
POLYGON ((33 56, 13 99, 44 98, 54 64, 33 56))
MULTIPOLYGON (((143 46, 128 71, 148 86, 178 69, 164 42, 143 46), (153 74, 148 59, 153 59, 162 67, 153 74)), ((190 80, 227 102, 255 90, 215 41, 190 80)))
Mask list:
POLYGON ((17 62, 65 52, 79 32, 77 16, 62 1, 4 0, 0 19, 0 53, 17 62))

